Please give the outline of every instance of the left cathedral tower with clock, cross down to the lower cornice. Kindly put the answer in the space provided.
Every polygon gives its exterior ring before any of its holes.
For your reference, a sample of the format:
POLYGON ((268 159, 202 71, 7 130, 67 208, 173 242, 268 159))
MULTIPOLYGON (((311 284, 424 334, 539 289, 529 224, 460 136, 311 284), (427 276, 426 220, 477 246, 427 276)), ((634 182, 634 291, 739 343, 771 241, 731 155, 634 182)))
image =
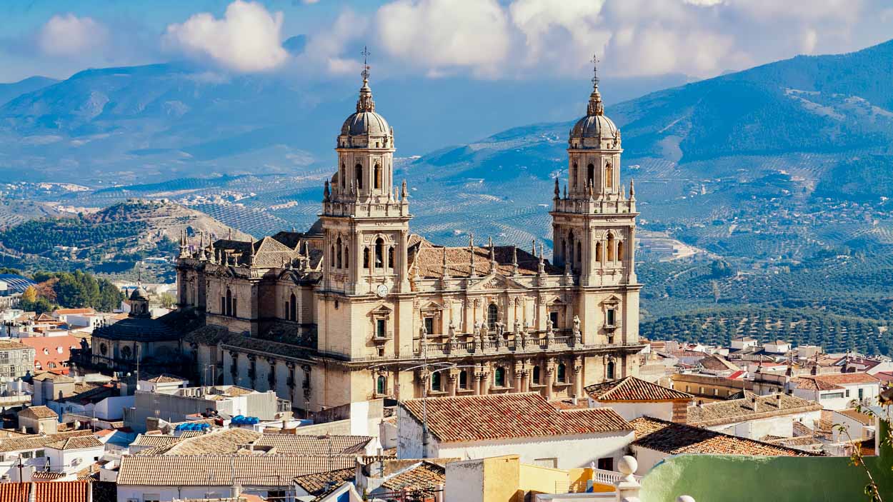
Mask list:
MULTIPOLYGON (((394 130, 375 111, 368 65, 356 111, 341 126, 335 151, 338 172, 326 181, 320 214, 325 256, 316 291, 318 349, 346 361, 370 350, 380 356, 408 355, 413 345, 407 257, 412 215, 405 182, 394 185, 394 130), (402 324, 401 315, 406 317, 402 324)), ((329 374, 327 388, 332 379, 346 379, 337 387, 351 389, 351 372, 329 374)))

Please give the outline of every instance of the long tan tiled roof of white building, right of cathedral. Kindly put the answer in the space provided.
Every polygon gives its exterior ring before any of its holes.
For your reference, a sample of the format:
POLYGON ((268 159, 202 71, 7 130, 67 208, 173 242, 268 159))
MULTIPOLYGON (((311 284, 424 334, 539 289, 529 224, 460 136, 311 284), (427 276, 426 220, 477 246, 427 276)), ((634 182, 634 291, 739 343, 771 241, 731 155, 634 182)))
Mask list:
POLYGON ((799 414, 822 410, 822 405, 796 396, 772 394, 758 396, 749 390, 744 397, 716 401, 700 406, 689 406, 690 425, 708 427, 722 423, 736 423, 757 418, 799 414))

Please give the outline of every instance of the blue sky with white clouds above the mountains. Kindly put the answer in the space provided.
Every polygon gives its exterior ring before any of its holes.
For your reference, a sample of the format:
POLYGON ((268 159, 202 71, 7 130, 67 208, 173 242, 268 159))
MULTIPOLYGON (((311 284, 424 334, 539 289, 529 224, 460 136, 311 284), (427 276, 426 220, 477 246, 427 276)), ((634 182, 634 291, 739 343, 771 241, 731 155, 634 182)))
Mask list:
POLYGON ((470 79, 703 79, 893 38, 889 0, 8 0, 0 82, 188 60, 325 81, 373 72, 470 79), (288 38, 306 36, 293 54, 288 38))

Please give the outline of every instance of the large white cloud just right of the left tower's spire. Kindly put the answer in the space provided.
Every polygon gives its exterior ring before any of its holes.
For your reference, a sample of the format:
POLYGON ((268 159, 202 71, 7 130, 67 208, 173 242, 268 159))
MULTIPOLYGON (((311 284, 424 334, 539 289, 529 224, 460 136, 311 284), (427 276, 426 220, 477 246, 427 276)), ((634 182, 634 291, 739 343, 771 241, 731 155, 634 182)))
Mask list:
POLYGON ((384 49, 426 69, 495 75, 509 52, 509 22, 496 0, 396 0, 376 15, 384 49))

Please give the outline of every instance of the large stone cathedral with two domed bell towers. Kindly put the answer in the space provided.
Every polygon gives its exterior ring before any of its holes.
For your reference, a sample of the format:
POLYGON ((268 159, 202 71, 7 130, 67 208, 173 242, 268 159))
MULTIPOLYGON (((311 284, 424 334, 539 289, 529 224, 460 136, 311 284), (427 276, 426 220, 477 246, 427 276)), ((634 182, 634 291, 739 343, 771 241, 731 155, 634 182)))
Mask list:
POLYGON ((179 309, 204 325, 180 343, 199 382, 275 390, 313 414, 382 397, 582 397, 636 374, 638 213, 598 79, 555 180, 549 261, 542 243, 443 247, 410 230, 394 130, 368 77, 309 230, 182 238, 179 309))

